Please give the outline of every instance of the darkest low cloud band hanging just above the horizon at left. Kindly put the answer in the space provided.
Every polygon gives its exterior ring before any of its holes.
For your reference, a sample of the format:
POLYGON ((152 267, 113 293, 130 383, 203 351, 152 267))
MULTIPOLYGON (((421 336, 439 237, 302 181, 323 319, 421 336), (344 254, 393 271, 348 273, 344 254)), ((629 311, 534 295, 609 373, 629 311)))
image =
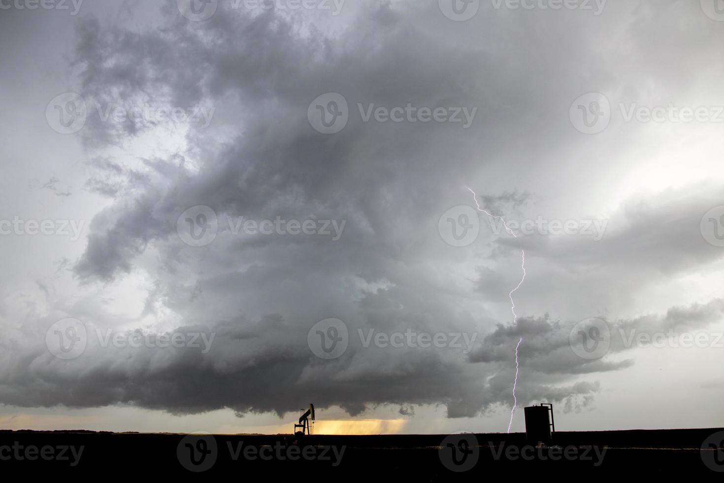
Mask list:
MULTIPOLYGON (((88 324, 88 329, 97 327, 88 324)), ((0 393, 5 403, 17 406, 132 403, 172 413, 232 408, 281 414, 292 411, 300 398, 320 407, 340 405, 351 414, 366 404, 442 402, 450 416, 473 416, 494 402, 494 390, 508 390, 483 387, 473 377, 460 390, 460 379, 451 374, 464 377, 464 368, 437 353, 378 352, 375 360, 355 348, 328 364, 296 343, 306 340, 306 330, 274 316, 256 324, 237 319, 175 332, 196 331, 214 333, 206 354, 199 348, 89 345, 80 357, 58 361, 38 347, 7 361, 14 377, 4 381, 0 393)), ((571 394, 560 391, 562 399, 571 394)))

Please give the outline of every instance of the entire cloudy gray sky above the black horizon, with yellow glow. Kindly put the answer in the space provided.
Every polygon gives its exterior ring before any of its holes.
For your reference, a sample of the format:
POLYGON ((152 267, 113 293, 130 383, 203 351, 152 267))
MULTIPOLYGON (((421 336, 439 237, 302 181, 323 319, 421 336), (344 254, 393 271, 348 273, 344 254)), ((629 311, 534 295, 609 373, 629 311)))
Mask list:
POLYGON ((1 427, 724 424, 713 0, 194 2, 0 2, 1 427))

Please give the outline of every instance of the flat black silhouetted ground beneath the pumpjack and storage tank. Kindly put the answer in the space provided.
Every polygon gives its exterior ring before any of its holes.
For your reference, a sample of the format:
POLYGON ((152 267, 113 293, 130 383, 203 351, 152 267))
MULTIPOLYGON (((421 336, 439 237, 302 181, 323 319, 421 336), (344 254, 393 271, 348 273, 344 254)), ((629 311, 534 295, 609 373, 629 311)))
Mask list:
POLYGON ((721 481, 724 472, 717 470, 724 471, 724 451, 714 448, 722 447, 723 438, 715 438, 715 446, 702 450, 707 439, 720 431, 724 429, 557 432, 553 445, 561 450, 526 447, 525 435, 520 433, 295 439, 290 435, 0 431, 0 468, 20 471, 12 473, 18 476, 47 471, 54 476, 122 479, 193 476, 194 472, 228 478, 232 471, 243 471, 238 474, 241 478, 282 475, 300 481, 320 476, 383 482, 393 478, 439 481, 455 476, 534 476, 542 481, 560 476, 593 476, 594 481, 596 476, 620 476, 626 481, 633 474, 703 476, 721 481), (455 446, 459 466, 452 461, 453 448, 448 443, 455 446))

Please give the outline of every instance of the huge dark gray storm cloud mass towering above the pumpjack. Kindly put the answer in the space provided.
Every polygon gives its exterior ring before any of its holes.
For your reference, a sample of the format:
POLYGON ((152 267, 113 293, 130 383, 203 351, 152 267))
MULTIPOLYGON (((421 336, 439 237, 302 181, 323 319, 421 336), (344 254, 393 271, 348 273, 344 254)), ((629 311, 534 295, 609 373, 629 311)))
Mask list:
MULTIPOLYGON (((461 252, 442 245, 437 219, 456 203, 472 202, 463 187, 484 167, 494 177, 508 169, 508 159, 531 156, 533 167, 568 148, 573 129, 557 114, 565 114, 579 89, 590 90, 589 77, 602 86, 617 82, 604 71, 610 59, 595 54, 601 43, 638 38, 639 31, 655 28, 661 12, 636 9, 633 18, 643 19, 644 29, 619 27, 613 20, 565 23, 568 38, 545 44, 537 39, 561 28, 565 12, 558 20, 535 22, 481 15, 468 29, 442 17, 437 1, 419 9, 382 2, 363 9, 337 35, 307 31, 274 12, 220 11, 206 22, 189 22, 169 2, 165 13, 157 30, 92 18, 79 23, 78 91, 90 106, 81 133, 85 146, 90 152, 123 146, 158 126, 148 119, 104 121, 98 105, 209 105, 216 108, 214 119, 206 129, 191 125, 188 151, 169 159, 141 159, 127 167, 94 158, 95 174, 86 188, 110 201, 90 225, 75 274, 88 285, 144 274, 153 290, 143 314, 159 306, 182 314, 177 325, 214 332, 214 347, 204 354, 91 346, 73 361, 59 361, 42 342, 55 320, 75 316, 100 327, 114 321, 96 306, 58 304, 56 317, 41 319, 37 332, 5 343, 12 355, 5 356, 2 402, 130 403, 172 413, 232 408, 243 414, 285 413, 300 400, 313 400, 351 414, 366 405, 394 404, 403 415, 413 412, 410 405, 442 403, 448 416, 460 417, 510 403, 512 356, 520 337, 526 341, 520 352, 526 369, 521 403, 545 399, 575 410, 591 403, 600 386, 574 375, 594 379, 594 373, 631 365, 577 358, 568 347, 570 321, 529 311, 510 326, 486 311, 481 302, 508 302, 517 283, 509 278, 519 277, 517 259, 512 274, 476 266, 473 282, 486 293, 461 303, 471 295, 448 278, 461 252), (613 32, 612 24, 623 31, 613 32), (551 88, 563 82, 568 89, 551 88), (327 92, 345 96, 352 112, 348 126, 331 136, 313 130, 306 117, 311 101, 327 92), (479 114, 468 131, 382 125, 362 122, 356 103, 477 106, 479 114), (347 225, 334 243, 306 236, 243 238, 222 229, 211 245, 190 248, 177 236, 176 223, 198 205, 210 206, 220 219, 317 217, 347 225), (310 327, 328 317, 342 319, 352 339, 335 361, 316 358, 307 346, 310 327), (355 338, 358 329, 480 332, 480 337, 468 357, 450 348, 364 348, 355 338)), ((645 55, 626 45, 624 60, 645 55)), ((535 193, 508 188, 480 199, 500 213, 535 199, 535 193)), ((633 260, 649 272, 695 269, 719 257, 700 243, 700 234, 692 238, 710 201, 651 200, 668 210, 664 226, 641 203, 631 206, 617 218, 628 224, 595 245, 502 238, 491 243, 489 259, 517 257, 517 249, 526 248, 533 260, 581 272, 598 266, 602 276, 618 275, 633 260)), ((531 274, 528 283, 531 292, 556 286, 547 272, 531 274)), ((620 324, 703 327, 721 315, 719 303, 712 304, 620 324)))

